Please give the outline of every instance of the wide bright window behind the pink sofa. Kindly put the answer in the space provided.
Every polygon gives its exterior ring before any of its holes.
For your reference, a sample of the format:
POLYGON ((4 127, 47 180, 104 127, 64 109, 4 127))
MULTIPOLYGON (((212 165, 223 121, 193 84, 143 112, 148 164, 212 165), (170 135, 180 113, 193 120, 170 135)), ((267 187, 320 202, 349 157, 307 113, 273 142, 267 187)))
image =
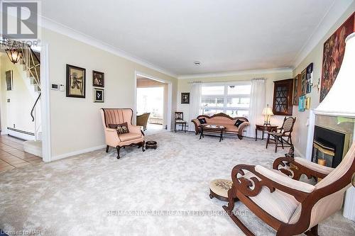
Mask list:
POLYGON ((249 116, 251 83, 202 85, 202 114, 249 116))

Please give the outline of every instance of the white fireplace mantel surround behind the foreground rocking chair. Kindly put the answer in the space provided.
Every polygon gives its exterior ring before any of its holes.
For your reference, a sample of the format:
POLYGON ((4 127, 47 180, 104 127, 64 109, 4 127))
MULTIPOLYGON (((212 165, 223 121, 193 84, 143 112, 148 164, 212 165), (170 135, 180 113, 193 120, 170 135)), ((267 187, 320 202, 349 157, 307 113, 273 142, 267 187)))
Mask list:
MULTIPOLYGON (((315 110, 310 110, 310 118, 308 120, 306 159, 311 162, 312 162, 313 138, 315 135, 316 115, 332 116, 330 114, 317 113, 317 111, 315 110)), ((353 142, 355 142, 355 127, 353 133, 353 142)), ((355 221, 355 188, 353 186, 351 186, 346 191, 343 215, 345 218, 355 221)))

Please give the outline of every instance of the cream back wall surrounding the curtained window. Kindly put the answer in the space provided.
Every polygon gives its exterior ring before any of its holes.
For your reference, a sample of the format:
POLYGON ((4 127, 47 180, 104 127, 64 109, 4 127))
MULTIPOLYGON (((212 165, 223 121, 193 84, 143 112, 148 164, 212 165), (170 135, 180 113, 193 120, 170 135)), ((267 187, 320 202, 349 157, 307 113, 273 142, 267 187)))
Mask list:
MULTIPOLYGON (((178 103, 177 103, 177 111, 182 111, 184 113, 184 118, 187 120, 190 117, 190 104, 181 104, 181 93, 188 93, 191 91, 192 84, 189 84, 194 81, 204 82, 224 82, 224 81, 241 81, 241 80, 251 80, 254 78, 266 78, 266 104, 269 106, 273 106, 273 82, 281 79, 290 79, 292 78, 292 71, 285 70, 273 70, 271 72, 268 71, 260 71, 260 72, 250 72, 243 74, 236 74, 230 76, 212 76, 212 77, 194 77, 193 79, 179 79, 178 83, 178 103)), ((194 99, 190 97, 191 99, 194 99)), ((261 116, 260 111, 260 116, 261 116)), ((271 124, 282 125, 284 116, 272 116, 271 124)), ((189 121, 189 125, 192 123, 189 121)), ((255 128, 253 128, 255 129, 255 128)))

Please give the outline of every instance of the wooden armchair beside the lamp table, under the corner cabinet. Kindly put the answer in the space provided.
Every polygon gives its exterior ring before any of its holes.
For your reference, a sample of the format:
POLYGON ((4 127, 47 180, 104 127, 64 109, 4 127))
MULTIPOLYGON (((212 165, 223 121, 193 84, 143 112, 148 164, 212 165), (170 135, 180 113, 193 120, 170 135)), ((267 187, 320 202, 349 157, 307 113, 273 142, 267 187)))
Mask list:
POLYGON ((278 152, 278 147, 292 147, 292 131, 293 125, 295 125, 296 118, 288 117, 283 119, 283 126, 277 128, 276 132, 268 132, 268 139, 266 140, 266 148, 268 148, 269 143, 275 144, 275 152, 278 152), (270 136, 273 138, 270 139, 270 136), (287 137, 287 140, 284 138, 287 137), (285 145, 286 144, 286 145, 285 145))

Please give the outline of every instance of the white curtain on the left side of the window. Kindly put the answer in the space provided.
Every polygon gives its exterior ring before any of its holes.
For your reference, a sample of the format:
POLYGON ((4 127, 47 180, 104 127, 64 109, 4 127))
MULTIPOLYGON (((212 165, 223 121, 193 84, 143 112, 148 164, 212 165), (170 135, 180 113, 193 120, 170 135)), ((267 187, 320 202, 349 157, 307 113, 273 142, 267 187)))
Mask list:
POLYGON ((201 88, 201 83, 192 84, 192 89, 190 92, 190 114, 189 120, 187 120, 187 123, 189 124, 189 131, 195 131, 195 125, 191 122, 191 120, 201 115, 201 88))

